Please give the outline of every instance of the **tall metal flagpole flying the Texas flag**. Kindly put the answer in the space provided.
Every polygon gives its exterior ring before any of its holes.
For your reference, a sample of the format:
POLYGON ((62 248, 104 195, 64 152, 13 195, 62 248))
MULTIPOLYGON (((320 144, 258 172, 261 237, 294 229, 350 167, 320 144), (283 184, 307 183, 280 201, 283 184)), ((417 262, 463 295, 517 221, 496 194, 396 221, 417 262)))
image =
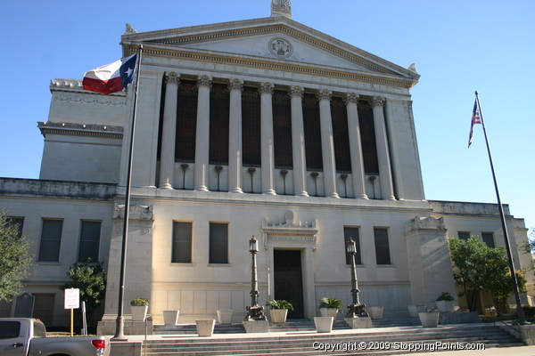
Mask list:
POLYGON ((125 198, 125 215, 123 223, 122 247, 120 253, 120 277, 119 277, 119 307, 117 311, 117 321, 115 325, 115 336, 111 340, 128 341, 125 337, 125 317, 123 315, 125 303, 125 274, 127 269, 127 237, 128 237, 128 218, 130 207, 130 184, 132 182, 132 157, 134 156, 134 134, 136 133, 136 112, 137 112, 137 90, 139 86, 139 69, 141 68, 141 55, 143 53, 143 44, 139 45, 139 52, 136 63, 136 84, 134 85, 134 109, 132 114, 132 128, 130 130, 130 149, 128 152, 128 170, 127 170, 127 191, 125 198))

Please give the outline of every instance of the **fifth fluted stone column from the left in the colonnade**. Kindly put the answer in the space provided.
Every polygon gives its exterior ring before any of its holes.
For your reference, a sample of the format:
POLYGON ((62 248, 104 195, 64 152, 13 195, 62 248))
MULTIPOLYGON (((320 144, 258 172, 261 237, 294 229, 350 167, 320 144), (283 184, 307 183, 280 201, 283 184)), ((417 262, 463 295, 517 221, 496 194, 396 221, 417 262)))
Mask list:
POLYGON ((292 155, 293 155, 293 194, 308 197, 305 155, 305 128, 303 125, 302 97, 303 88, 299 85, 290 88, 292 97, 292 155))

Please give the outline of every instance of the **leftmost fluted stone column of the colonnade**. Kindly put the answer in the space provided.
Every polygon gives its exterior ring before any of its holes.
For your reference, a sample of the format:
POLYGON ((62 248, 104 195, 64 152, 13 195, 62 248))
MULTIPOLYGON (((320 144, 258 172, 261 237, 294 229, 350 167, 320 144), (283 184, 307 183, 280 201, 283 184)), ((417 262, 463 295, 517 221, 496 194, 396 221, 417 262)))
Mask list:
POLYGON ((177 73, 166 77, 165 106, 161 128, 160 184, 159 188, 173 189, 175 173, 175 139, 177 137, 177 73))

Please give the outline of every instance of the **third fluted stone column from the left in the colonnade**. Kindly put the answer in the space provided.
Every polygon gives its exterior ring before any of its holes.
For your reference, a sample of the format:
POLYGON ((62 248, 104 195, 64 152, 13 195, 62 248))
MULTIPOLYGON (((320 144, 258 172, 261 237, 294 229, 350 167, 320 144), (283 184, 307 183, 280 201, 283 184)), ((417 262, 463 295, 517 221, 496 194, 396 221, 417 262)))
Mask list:
POLYGON ((243 82, 233 79, 228 83, 230 112, 228 121, 228 191, 242 190, 242 91, 243 82))

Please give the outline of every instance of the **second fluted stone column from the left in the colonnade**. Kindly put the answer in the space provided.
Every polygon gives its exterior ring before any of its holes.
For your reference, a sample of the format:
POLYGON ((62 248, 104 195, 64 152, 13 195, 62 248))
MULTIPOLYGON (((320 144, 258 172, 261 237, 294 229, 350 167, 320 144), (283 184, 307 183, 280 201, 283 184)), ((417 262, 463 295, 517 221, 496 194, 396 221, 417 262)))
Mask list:
POLYGON ((197 132, 195 137, 195 190, 208 191, 208 168, 210 157, 210 87, 211 78, 202 76, 197 80, 199 101, 197 103, 197 132))

